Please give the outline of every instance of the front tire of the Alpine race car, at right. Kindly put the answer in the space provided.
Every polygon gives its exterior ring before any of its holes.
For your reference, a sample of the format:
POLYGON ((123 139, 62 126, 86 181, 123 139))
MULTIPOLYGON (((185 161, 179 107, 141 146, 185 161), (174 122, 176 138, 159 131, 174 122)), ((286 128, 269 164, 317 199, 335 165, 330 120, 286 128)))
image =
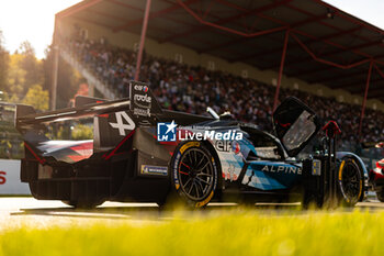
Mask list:
POLYGON ((352 158, 345 158, 338 170, 339 203, 353 207, 363 193, 364 176, 352 158))

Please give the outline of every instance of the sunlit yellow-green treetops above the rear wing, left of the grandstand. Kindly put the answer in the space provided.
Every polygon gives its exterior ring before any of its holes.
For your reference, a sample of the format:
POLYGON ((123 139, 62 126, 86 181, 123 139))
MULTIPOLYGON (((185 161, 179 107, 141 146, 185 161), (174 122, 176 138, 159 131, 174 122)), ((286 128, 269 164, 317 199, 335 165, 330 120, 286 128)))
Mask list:
MULTIPOLYGON (((50 46, 46 48, 45 57, 37 59, 33 46, 27 41, 14 53, 9 53, 0 31, 0 101, 31 104, 38 111, 48 110, 53 63, 50 46)), ((59 58, 57 81, 56 108, 66 108, 83 78, 59 58)))

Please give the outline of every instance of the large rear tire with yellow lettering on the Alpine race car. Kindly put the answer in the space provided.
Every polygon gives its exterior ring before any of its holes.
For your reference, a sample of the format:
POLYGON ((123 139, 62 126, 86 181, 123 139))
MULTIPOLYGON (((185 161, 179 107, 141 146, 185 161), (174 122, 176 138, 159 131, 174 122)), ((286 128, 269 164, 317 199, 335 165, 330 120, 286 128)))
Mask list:
POLYGON ((171 185, 177 201, 188 207, 205 207, 213 198, 218 180, 215 157, 202 142, 181 143, 170 162, 171 185))

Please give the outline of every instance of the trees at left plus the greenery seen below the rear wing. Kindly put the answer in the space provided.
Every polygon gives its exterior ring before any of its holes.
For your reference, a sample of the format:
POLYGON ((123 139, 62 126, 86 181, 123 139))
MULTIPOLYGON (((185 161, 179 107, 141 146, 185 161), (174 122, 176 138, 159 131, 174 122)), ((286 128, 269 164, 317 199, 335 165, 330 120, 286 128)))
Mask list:
MULTIPOLYGON (((30 42, 23 42, 14 53, 4 47, 0 30, 0 101, 33 105, 37 111, 49 109, 49 93, 53 81, 54 53, 48 46, 43 59, 36 58, 30 42)), ((84 79, 64 59, 58 62, 56 108, 67 108, 84 79)), ((11 108, 12 109, 12 108, 11 108)), ((22 137, 13 125, 13 110, 0 104, 0 158, 21 158, 22 137)), ((92 138, 89 125, 58 124, 47 130, 53 140, 92 138)))

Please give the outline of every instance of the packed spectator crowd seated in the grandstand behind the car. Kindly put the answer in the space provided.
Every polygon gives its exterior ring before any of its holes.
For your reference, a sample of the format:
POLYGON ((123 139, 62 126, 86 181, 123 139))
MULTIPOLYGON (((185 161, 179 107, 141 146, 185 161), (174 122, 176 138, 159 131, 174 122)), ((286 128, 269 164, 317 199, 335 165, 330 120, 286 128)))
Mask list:
MULTIPOLYGON (((105 40, 66 41, 64 48, 100 80, 126 97, 128 81, 135 75, 136 53, 108 44, 105 40)), ((166 109, 205 113, 207 107, 216 112, 230 111, 235 119, 251 122, 272 131, 271 115, 275 88, 250 78, 219 70, 163 59, 144 54, 139 80, 150 85, 166 109)), ((300 90, 281 88, 280 100, 294 96, 314 109, 324 120, 336 120, 345 144, 358 142, 361 105, 338 102, 300 90)), ((365 110, 362 141, 384 140, 384 113, 365 110)))

